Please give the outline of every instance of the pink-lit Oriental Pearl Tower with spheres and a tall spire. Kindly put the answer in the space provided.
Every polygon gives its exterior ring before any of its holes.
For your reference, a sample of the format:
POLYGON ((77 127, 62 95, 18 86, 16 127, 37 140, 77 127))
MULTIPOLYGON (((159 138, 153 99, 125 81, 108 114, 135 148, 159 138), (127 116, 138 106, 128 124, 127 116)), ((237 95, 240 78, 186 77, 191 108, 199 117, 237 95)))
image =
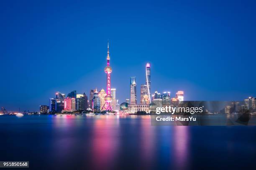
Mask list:
POLYGON ((111 88, 110 88, 110 74, 112 72, 112 68, 109 66, 109 45, 108 45, 108 57, 107 57, 107 66, 105 67, 104 71, 107 74, 107 90, 106 93, 107 95, 105 96, 105 104, 102 106, 101 110, 110 110, 112 111, 112 107, 110 103, 112 102, 112 96, 111 96, 111 88))

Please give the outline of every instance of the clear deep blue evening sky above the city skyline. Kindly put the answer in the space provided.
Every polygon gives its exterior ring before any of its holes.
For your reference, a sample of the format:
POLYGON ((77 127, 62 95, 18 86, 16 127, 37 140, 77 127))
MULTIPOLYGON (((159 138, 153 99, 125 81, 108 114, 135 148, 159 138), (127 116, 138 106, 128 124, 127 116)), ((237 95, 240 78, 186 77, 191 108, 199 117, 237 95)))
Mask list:
POLYGON ((112 87, 129 98, 129 78, 185 100, 256 96, 256 1, 26 1, 0 5, 0 106, 38 111, 56 91, 112 87))

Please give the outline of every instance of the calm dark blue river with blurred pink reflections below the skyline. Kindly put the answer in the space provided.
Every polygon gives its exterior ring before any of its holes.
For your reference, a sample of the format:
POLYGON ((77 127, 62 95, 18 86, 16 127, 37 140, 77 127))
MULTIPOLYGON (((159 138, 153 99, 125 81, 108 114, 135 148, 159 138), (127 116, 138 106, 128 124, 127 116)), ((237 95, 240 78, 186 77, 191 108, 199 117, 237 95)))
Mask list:
POLYGON ((256 126, 151 126, 150 116, 0 116, 0 160, 31 169, 256 168, 256 126))

